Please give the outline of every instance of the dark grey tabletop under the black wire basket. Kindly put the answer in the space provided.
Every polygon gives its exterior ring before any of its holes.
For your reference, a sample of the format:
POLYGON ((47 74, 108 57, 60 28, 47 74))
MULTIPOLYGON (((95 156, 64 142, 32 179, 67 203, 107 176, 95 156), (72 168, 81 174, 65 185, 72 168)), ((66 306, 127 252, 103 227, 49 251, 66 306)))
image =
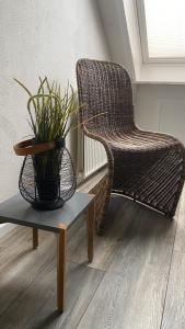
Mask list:
POLYGON ((93 195, 76 192, 55 211, 36 211, 20 194, 0 204, 0 223, 13 223, 50 231, 58 231, 59 225, 67 228, 88 208, 93 195))

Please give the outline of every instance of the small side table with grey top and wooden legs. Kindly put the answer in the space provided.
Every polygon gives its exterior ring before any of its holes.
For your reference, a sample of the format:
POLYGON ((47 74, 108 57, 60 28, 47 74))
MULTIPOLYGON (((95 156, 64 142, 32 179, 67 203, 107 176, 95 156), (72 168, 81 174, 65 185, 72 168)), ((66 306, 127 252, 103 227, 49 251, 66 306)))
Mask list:
POLYGON ((57 302, 60 311, 65 309, 67 229, 84 212, 88 212, 88 259, 91 262, 93 259, 94 195, 76 192, 61 208, 49 212, 34 209, 20 194, 0 204, 0 224, 13 223, 32 227, 34 249, 38 247, 38 229, 57 232, 57 302))

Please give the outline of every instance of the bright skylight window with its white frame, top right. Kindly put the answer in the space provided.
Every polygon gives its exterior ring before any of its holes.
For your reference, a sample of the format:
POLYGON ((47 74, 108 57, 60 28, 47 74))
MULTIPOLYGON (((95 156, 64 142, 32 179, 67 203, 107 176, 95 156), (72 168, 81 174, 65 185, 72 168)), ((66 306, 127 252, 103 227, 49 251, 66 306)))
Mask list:
POLYGON ((185 61, 185 0, 137 0, 146 61, 185 61), (178 60, 176 60, 178 61, 178 60))

